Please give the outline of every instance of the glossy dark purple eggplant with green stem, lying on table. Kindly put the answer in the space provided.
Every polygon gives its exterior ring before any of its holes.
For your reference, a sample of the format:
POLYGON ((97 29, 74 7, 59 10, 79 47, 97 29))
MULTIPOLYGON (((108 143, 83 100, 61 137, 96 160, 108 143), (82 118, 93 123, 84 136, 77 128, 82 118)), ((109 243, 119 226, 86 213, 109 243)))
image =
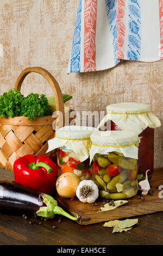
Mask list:
POLYGON ((48 194, 30 190, 14 181, 0 180, 0 213, 29 214, 53 218, 61 214, 73 221, 78 218, 61 209, 48 194))

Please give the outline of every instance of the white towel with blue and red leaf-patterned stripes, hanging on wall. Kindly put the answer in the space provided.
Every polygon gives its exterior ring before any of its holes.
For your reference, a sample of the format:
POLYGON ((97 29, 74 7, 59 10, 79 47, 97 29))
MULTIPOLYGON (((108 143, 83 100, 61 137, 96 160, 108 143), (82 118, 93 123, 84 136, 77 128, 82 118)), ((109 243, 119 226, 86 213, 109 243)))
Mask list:
POLYGON ((80 0, 69 72, 163 59, 163 0, 80 0))

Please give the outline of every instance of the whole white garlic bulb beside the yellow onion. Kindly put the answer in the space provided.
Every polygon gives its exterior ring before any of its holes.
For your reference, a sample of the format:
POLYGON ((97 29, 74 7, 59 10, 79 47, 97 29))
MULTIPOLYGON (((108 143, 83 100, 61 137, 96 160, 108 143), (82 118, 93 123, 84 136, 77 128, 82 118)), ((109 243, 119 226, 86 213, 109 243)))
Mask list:
POLYGON ((76 195, 83 203, 92 204, 98 198, 98 187, 93 180, 80 181, 76 195))

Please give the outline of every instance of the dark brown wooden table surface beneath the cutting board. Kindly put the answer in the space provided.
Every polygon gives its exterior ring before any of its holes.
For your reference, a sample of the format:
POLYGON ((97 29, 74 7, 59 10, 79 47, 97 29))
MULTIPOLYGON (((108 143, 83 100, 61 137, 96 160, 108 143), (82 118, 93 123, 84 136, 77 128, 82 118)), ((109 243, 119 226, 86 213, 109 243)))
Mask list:
MULTIPOLYGON (((14 179, 14 174, 0 169, 0 179, 14 179)), ((163 185, 163 184, 162 184, 163 185)), ((163 200, 163 199, 162 199, 163 200)), ((103 223, 82 226, 55 216, 24 220, 22 216, 0 214, 0 245, 162 245, 163 212, 139 216, 139 225, 123 233, 113 233, 103 223), (32 221, 33 224, 29 224, 32 221), (55 225, 56 229, 53 230, 55 225)))

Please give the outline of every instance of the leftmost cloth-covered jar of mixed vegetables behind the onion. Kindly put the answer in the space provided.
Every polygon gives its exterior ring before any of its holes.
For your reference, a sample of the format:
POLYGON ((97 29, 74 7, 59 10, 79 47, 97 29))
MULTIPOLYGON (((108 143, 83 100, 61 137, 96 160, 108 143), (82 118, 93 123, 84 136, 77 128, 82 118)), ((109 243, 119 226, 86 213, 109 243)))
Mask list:
POLYGON ((64 126, 48 141, 48 151, 57 149, 58 176, 71 172, 80 180, 92 179, 89 150, 90 135, 96 128, 86 126, 64 126))

